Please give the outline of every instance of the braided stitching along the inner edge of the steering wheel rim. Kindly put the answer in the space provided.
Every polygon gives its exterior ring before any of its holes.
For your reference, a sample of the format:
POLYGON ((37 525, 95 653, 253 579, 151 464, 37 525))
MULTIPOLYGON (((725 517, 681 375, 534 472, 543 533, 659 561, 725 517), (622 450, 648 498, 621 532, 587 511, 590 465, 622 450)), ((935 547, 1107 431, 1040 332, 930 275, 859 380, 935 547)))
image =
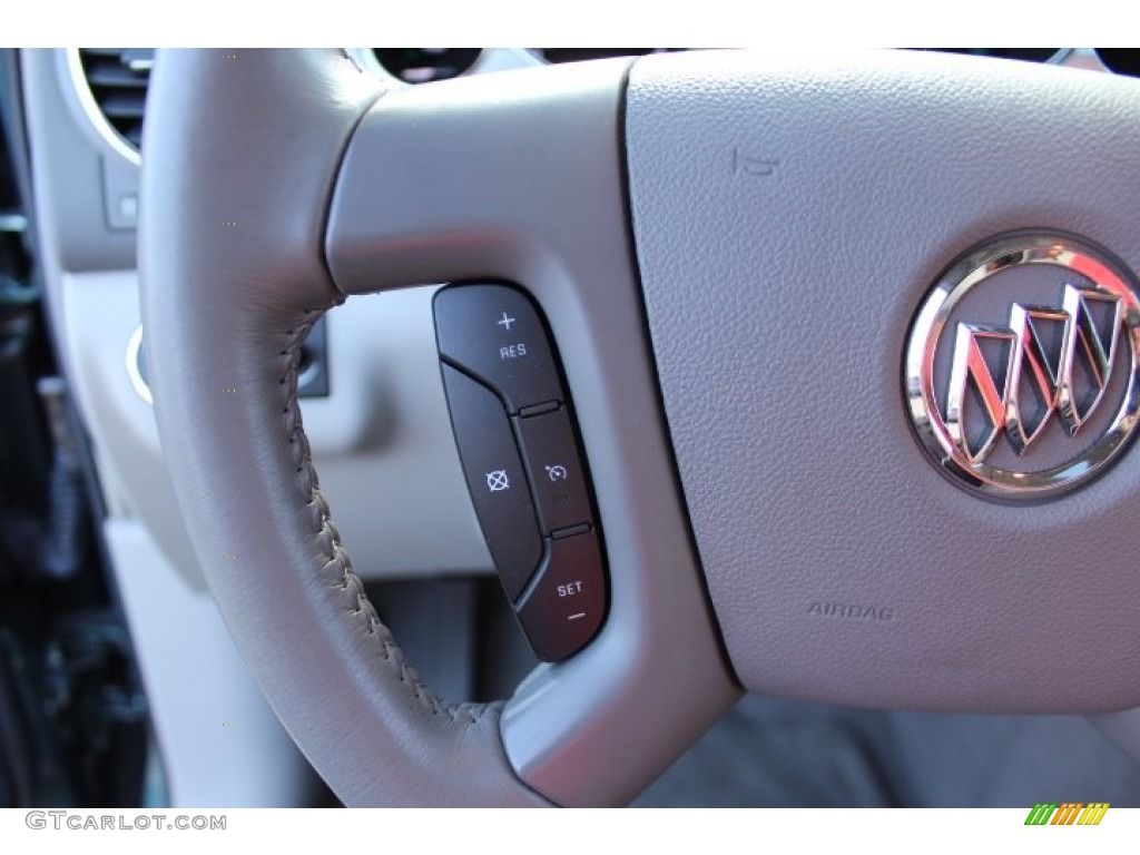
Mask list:
POLYGON ((285 394, 282 413, 285 416, 285 434, 292 447, 293 462, 296 464, 296 472, 300 475, 299 484, 306 498, 306 504, 314 511, 314 522, 317 526, 315 535, 318 540, 325 542, 328 553, 328 560, 320 567, 320 572, 335 578, 337 570, 340 571, 340 589, 348 592, 351 588, 355 595, 352 597, 355 608, 344 606, 344 611, 350 618, 357 620, 364 616, 368 624, 365 635, 377 640, 380 644, 380 658, 384 662, 396 665, 399 669, 399 681, 407 683, 412 687, 417 701, 429 709, 433 716, 443 712, 453 722, 465 717, 467 719, 465 724, 477 725, 488 715, 497 714, 502 705, 453 703, 441 698, 420 677, 418 671, 408 663, 404 651, 396 643, 391 630, 384 626, 380 616, 376 614, 376 609, 365 593, 364 583, 352 570, 352 561, 341 545, 340 532, 332 521, 328 503, 325 500, 325 496, 318 486, 317 470, 312 465, 309 439, 301 423, 301 407, 296 394, 296 367, 300 363, 301 343, 321 315, 324 315, 323 310, 306 309, 303 323, 286 331, 285 334, 288 339, 285 348, 280 351, 280 356, 285 357, 285 373, 282 375, 278 384, 285 394))

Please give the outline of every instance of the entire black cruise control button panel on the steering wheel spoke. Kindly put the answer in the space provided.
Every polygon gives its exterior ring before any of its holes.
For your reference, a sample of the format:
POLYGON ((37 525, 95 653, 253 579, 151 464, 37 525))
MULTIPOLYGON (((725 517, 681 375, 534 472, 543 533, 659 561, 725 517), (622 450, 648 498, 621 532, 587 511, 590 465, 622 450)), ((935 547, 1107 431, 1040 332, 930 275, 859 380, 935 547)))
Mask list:
POLYGON ((443 389, 475 514, 531 648, 562 661, 608 594, 589 472, 537 307, 507 285, 435 294, 443 389))

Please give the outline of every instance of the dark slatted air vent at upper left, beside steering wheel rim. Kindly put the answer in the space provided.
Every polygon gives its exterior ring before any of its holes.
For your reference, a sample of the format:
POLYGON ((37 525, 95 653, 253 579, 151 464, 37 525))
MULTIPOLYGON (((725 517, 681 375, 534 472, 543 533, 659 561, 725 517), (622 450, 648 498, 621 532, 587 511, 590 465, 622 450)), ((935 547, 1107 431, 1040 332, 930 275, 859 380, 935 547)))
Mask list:
POLYGON ((154 48, 80 48, 79 58, 107 123, 137 152, 142 144, 154 48))

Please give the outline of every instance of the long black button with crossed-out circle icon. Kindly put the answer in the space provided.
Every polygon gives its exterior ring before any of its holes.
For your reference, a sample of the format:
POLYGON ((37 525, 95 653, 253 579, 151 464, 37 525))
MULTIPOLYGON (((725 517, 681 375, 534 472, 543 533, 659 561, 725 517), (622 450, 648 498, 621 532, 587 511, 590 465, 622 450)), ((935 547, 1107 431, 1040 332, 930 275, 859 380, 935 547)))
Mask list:
POLYGON ((450 366, 443 386, 475 514, 507 596, 514 601, 543 555, 511 421, 495 394, 450 366))

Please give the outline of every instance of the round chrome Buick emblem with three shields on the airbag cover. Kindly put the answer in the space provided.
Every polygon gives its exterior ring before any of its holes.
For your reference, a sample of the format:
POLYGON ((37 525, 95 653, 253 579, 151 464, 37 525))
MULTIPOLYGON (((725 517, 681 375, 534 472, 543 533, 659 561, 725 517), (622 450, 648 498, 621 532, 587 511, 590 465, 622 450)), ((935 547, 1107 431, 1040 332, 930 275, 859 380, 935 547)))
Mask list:
POLYGON ((1140 302, 1124 264, 1062 235, 962 256, 914 319, 911 417, 959 483, 1045 498, 1098 474, 1137 424, 1140 302))

